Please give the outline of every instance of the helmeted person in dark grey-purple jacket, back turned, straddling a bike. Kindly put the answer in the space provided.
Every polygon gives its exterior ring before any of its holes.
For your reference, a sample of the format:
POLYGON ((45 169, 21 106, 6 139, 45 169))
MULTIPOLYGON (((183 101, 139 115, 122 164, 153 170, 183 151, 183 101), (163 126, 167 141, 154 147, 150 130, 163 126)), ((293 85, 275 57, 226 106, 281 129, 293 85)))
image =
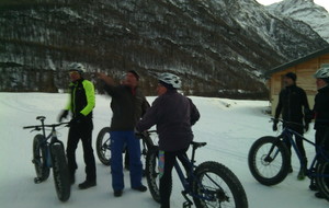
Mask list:
MULTIPOLYGON (((177 89, 181 88, 181 80, 178 76, 162 73, 158 80, 157 93, 159 96, 141 120, 137 123, 136 129, 145 131, 157 125, 159 161, 164 161, 163 166, 159 165, 161 208, 169 208, 171 171, 175 158, 181 160, 182 155, 186 154, 193 140, 191 127, 198 120, 200 113, 190 99, 178 93, 177 89)), ((186 165, 184 166, 186 167, 186 165)))

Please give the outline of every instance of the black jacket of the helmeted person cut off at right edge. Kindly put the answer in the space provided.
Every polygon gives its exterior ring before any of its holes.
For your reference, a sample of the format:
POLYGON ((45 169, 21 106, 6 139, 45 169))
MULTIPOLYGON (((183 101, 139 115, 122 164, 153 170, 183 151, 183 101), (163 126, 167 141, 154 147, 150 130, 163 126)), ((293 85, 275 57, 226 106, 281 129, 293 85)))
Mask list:
POLYGON ((318 90, 314 104, 315 129, 329 127, 329 86, 318 90))

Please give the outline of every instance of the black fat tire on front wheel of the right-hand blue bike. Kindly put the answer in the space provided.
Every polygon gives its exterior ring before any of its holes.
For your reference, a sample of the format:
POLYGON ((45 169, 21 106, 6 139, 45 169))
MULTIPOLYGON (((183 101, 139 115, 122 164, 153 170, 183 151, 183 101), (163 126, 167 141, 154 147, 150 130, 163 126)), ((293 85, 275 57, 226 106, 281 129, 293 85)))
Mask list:
MULTIPOLYGON (((269 149, 270 150, 270 149, 269 149)), ((288 174, 288 169, 291 165, 291 153, 287 149, 287 147, 282 142, 277 141, 276 137, 261 137, 258 139, 250 148, 249 155, 248 155, 248 164, 249 164, 249 170, 253 177, 261 184, 266 185, 266 186, 272 186, 275 184, 281 183, 288 174), (262 167, 270 167, 271 162, 264 161, 264 158, 268 152, 264 152, 262 157, 257 158, 260 149, 264 145, 270 145, 270 147, 275 146, 275 149, 279 150, 279 154, 281 155, 282 161, 276 160, 277 165, 280 169, 277 170, 277 173, 273 176, 264 176, 261 174, 261 170, 259 170, 257 162, 260 162, 262 164, 262 167)))

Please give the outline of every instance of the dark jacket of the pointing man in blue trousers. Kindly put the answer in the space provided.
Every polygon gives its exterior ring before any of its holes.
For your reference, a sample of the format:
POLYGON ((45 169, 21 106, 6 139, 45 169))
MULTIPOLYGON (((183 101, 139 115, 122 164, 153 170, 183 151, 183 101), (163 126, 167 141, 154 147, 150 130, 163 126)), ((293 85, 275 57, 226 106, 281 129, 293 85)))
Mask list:
POLYGON ((112 96, 111 130, 134 130, 137 122, 149 107, 141 91, 138 88, 133 91, 127 85, 105 85, 104 90, 112 96))

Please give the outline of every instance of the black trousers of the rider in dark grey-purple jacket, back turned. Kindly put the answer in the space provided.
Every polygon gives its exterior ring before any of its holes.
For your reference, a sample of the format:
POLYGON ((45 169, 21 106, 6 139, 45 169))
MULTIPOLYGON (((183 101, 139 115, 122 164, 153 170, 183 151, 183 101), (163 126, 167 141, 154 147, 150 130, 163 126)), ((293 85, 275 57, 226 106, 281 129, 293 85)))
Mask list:
POLYGON ((170 195, 172 189, 172 167, 174 165, 175 159, 178 158, 183 164, 185 171, 188 172, 189 164, 186 163, 186 151, 188 149, 179 151, 164 151, 164 165, 163 165, 163 175, 160 177, 160 198, 161 198, 161 208, 170 207, 170 195))

